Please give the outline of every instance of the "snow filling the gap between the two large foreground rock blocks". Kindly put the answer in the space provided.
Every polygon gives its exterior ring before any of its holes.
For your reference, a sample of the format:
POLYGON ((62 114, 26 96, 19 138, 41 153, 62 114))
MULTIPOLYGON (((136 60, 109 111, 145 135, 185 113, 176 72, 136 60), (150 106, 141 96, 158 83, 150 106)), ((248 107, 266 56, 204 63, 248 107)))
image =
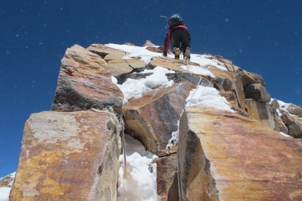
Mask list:
POLYGON ((156 163, 158 158, 146 151, 144 145, 126 134, 126 178, 124 178, 124 156, 119 156, 118 201, 156 201, 156 163), (126 190, 125 190, 126 186, 126 190))

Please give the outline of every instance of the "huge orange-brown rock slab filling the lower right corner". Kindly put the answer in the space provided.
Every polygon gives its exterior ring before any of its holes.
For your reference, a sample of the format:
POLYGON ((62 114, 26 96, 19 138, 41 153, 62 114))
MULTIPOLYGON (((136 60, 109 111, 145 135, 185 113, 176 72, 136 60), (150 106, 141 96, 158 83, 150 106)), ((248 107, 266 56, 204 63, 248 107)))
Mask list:
POLYGON ((259 121, 189 107, 178 143, 183 200, 302 199, 301 143, 259 121))

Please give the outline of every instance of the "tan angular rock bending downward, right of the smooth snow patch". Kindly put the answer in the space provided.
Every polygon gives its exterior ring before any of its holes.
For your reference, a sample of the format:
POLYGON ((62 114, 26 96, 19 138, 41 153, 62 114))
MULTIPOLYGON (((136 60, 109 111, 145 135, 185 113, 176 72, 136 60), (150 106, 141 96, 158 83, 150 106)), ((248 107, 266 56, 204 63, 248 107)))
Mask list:
POLYGON ((215 75, 217 88, 225 91, 232 91, 236 94, 238 107, 245 109, 245 97, 242 87, 242 80, 237 73, 220 70, 217 67, 210 66, 210 72, 215 75))

